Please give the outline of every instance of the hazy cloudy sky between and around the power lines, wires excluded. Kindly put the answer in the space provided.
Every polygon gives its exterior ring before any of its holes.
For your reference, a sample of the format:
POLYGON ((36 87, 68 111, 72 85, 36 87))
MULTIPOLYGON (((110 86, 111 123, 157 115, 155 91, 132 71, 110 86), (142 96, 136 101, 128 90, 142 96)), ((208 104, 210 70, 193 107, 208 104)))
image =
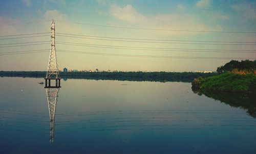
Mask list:
MULTIPOLYGON (((92 36, 203 40, 203 41, 255 41, 255 33, 195 33, 177 31, 145 31, 116 29, 61 23, 87 23, 121 27, 151 29, 199 30, 199 31, 250 31, 255 32, 255 1, 1 1, 0 23, 18 24, 38 20, 56 20, 56 32, 92 36)), ((1 26, 0 35, 50 32, 50 21, 18 26, 1 26)), ((15 42, 50 40, 50 37, 25 38, 15 42)), ((2 40, 2 43, 13 43, 2 40)), ((96 45, 255 50, 255 46, 188 45, 166 43, 116 42, 56 36, 56 41, 91 43, 96 45)), ((0 48, 0 52, 49 49, 50 45, 0 48)), ((200 56, 200 57, 251 57, 254 53, 205 53, 138 51, 79 47, 56 44, 56 50, 74 50, 98 53, 157 55, 157 56, 200 56)), ((0 56, 0 70, 45 70, 48 53, 0 56), (29 58, 29 60, 27 60, 29 58), (15 59, 12 61, 11 59, 15 59), (37 63, 31 65, 31 63, 37 63)), ((59 68, 78 70, 147 70, 147 71, 215 71, 229 60, 135 58, 100 55, 57 53, 59 68)), ((230 59, 231 60, 231 59, 230 59)))

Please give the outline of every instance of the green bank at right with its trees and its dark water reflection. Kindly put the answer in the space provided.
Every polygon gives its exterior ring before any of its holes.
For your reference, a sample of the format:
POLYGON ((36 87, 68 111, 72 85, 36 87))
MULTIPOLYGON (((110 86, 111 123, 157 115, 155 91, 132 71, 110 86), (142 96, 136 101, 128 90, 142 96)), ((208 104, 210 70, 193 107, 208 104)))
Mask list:
POLYGON ((219 67, 219 75, 195 78, 192 90, 198 95, 220 100, 230 106, 247 109, 256 118, 256 61, 231 60, 219 67))

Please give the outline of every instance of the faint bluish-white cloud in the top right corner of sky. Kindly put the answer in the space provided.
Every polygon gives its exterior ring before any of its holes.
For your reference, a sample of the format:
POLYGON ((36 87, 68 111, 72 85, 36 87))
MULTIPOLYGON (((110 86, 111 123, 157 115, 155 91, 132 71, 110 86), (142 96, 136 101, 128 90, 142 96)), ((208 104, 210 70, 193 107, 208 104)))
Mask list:
POLYGON ((232 5, 231 8, 241 13, 246 18, 256 18, 256 3, 244 3, 232 5))

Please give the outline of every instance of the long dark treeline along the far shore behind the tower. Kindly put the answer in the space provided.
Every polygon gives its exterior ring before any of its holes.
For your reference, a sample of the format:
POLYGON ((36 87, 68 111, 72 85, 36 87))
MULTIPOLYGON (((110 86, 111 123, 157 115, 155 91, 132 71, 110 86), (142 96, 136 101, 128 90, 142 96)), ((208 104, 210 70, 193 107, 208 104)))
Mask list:
MULTIPOLYGON (((95 80, 128 80, 128 81, 178 81, 191 82, 194 78, 208 77, 216 73, 193 72, 59 72, 66 79, 95 79, 95 80)), ((44 78, 42 71, 0 71, 1 77, 35 77, 44 78)))

